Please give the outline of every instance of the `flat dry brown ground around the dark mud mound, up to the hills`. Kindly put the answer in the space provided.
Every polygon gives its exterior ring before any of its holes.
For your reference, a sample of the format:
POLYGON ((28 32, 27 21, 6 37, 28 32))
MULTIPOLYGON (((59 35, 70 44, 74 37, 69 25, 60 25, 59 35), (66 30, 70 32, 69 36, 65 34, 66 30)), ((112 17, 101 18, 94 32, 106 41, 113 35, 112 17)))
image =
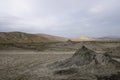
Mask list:
POLYGON ((108 52, 120 61, 120 42, 0 44, 0 80, 52 80, 44 74, 44 70, 41 73, 43 65, 69 58, 83 45, 96 52, 108 52), (42 74, 46 78, 38 78, 42 74))

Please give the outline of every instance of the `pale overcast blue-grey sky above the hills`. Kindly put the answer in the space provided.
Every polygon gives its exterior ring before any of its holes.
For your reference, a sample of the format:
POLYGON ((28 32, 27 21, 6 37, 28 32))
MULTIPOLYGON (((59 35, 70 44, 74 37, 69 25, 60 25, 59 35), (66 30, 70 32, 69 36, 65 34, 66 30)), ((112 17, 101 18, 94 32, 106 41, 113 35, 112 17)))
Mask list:
POLYGON ((120 0, 0 0, 0 32, 120 37, 120 0))

